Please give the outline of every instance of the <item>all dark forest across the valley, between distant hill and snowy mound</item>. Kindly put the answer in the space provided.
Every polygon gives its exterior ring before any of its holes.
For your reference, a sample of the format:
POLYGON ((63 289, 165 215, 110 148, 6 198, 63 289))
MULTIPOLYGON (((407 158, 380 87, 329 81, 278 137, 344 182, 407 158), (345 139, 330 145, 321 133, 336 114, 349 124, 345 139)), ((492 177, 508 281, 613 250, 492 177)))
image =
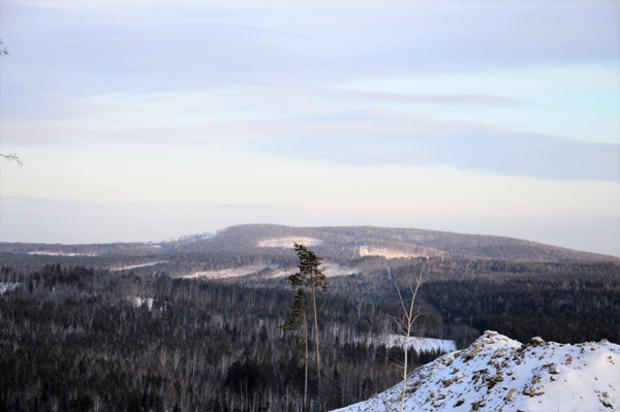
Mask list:
MULTIPOLYGON (((187 256, 202 259, 176 259, 187 256)), ((212 264, 238 259, 258 258, 212 264)), ((394 284, 406 295, 422 266, 425 314, 416 335, 455 339, 460 347, 485 329, 518 340, 620 341, 617 262, 356 262, 385 268, 329 278, 329 291, 318 296, 325 409, 400 380, 403 352, 383 346, 380 336, 397 330, 394 284)), ((285 279, 216 282, 54 264, 3 266, 0 282, 20 284, 0 296, 0 410, 302 408, 300 334, 280 327, 294 294, 285 279)), ((410 367, 438 356, 410 355, 410 367)), ((310 368, 311 409, 319 410, 310 368)))

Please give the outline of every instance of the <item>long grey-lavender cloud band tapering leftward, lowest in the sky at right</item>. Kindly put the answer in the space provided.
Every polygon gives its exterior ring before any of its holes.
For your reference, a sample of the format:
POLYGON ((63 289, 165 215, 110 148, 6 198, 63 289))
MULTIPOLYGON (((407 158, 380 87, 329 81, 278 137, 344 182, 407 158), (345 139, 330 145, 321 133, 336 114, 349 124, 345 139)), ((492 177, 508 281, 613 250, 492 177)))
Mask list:
POLYGON ((131 142, 219 147, 283 158, 314 158, 334 164, 448 165, 539 179, 616 181, 620 173, 619 144, 578 141, 387 110, 119 131, 26 125, 11 133, 19 136, 22 143, 30 141, 38 145, 63 142, 83 145, 84 139, 88 139, 91 143, 116 141, 119 145, 131 142))

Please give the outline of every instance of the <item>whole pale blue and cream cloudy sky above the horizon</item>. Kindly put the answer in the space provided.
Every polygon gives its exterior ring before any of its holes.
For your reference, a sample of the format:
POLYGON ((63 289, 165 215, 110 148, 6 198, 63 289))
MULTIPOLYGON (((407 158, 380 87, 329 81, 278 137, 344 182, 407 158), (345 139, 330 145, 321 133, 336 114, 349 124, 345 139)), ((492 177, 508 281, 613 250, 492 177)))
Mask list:
POLYGON ((620 256, 620 3, 3 0, 0 241, 242 223, 620 256))

